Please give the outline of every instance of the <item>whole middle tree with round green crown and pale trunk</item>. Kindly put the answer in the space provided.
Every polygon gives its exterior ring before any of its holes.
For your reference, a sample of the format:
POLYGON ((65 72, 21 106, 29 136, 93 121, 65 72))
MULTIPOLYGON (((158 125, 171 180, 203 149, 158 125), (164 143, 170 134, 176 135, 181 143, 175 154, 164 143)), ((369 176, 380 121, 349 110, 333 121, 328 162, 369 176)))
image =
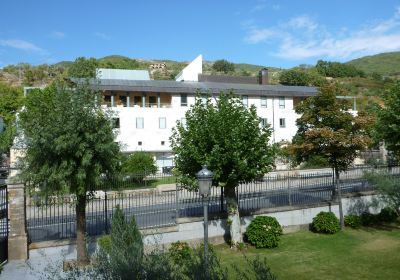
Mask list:
POLYGON ((242 240, 235 189, 272 169, 270 135, 269 127, 260 128, 256 108, 245 107, 232 93, 221 93, 216 104, 197 98, 186 124, 173 129, 171 146, 181 182, 195 186, 195 174, 207 164, 214 172, 213 185, 224 188, 232 244, 242 240))

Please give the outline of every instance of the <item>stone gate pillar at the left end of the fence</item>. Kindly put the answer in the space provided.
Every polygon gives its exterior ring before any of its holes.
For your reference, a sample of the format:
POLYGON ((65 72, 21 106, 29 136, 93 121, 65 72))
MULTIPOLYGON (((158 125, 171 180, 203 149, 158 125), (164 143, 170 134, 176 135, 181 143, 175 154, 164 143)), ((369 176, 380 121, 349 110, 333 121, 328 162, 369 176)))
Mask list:
POLYGON ((26 260, 28 259, 28 235, 26 233, 25 187, 9 179, 7 189, 10 226, 8 260, 26 260))

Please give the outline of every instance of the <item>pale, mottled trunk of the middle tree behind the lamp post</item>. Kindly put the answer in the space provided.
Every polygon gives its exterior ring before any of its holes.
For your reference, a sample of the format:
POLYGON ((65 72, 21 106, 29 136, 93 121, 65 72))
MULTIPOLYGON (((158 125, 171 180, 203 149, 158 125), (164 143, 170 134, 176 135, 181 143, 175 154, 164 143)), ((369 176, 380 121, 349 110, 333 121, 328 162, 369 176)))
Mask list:
POLYGON ((224 188, 226 205, 228 210, 228 225, 231 237, 231 246, 243 242, 239 207, 237 203, 236 187, 226 186, 224 188))

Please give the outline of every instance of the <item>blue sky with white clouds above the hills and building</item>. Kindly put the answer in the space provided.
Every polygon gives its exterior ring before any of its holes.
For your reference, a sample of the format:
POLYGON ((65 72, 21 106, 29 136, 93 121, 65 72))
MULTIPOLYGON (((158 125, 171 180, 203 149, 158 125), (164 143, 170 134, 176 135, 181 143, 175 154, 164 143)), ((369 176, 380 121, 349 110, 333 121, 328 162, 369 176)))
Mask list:
POLYGON ((0 68, 124 55, 289 68, 400 50, 400 0, 1 0, 0 68))

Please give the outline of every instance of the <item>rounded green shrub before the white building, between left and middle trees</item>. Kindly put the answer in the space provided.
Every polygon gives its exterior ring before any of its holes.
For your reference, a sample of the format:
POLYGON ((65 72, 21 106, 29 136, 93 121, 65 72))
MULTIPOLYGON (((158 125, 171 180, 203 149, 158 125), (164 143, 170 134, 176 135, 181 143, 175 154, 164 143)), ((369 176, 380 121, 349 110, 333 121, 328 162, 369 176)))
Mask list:
POLYGON ((145 176, 157 172, 157 166, 151 153, 138 151, 126 156, 122 161, 123 174, 145 176))

